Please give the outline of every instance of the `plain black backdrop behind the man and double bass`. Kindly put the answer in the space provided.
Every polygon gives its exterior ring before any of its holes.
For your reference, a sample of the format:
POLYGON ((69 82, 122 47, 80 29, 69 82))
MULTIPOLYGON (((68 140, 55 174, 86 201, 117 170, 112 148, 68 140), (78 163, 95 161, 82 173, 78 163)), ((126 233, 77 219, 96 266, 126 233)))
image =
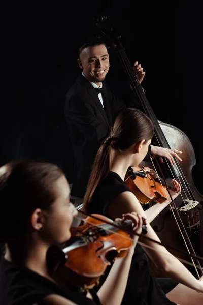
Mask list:
MULTIPOLYGON (((197 165, 202 159, 202 17, 187 1, 49 1, 2 3, 1 163, 18 158, 51 161, 69 177, 70 153, 63 107, 80 70, 77 50, 92 33, 91 21, 108 16, 122 36, 131 63, 146 71, 146 95, 157 118, 189 137, 197 165)), ((110 50, 107 83, 117 95, 128 90, 119 60, 110 50)))

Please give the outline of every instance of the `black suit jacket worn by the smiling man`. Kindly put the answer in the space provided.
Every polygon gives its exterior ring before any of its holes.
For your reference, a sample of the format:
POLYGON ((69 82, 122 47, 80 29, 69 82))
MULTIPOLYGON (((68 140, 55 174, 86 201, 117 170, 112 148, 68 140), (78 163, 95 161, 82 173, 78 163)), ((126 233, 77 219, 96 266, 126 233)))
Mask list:
MULTIPOLYGON (((72 195, 84 197, 96 153, 126 105, 103 83, 104 108, 92 84, 80 75, 66 95, 65 118, 75 158, 72 195)), ((148 153, 149 154, 149 153, 148 153)))

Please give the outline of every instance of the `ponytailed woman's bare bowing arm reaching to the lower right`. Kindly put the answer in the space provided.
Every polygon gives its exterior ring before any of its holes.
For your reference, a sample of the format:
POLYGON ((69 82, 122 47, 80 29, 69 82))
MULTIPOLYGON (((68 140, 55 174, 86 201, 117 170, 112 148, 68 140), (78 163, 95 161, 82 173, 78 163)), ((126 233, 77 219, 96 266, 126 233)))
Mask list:
MULTIPOLYGON (((111 218, 119 217, 119 215, 122 215, 124 212, 132 211, 139 212, 141 216, 146 217, 141 204, 131 192, 121 193, 107 208, 107 214, 111 218)), ((147 229, 148 233, 145 236, 160 242, 160 239, 149 224, 147 224, 147 229)), ((177 282, 182 283, 189 288, 203 292, 202 282, 196 280, 195 277, 193 277, 193 275, 185 268, 185 266, 163 246, 157 245, 156 243, 142 237, 140 237, 140 241, 146 244, 144 249, 157 268, 162 269, 169 277, 177 282), (147 248, 147 246, 152 247, 153 250, 147 248)))

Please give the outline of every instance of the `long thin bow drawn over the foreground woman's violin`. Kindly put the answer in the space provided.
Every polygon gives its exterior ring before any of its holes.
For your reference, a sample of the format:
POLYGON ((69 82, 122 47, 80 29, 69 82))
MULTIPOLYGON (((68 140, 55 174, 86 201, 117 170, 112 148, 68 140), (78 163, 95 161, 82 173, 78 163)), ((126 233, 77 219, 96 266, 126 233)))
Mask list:
MULTIPOLYGON (((84 215, 88 215, 87 213, 85 213, 85 212, 83 212, 83 211, 80 211, 80 213, 82 213, 82 214, 84 214, 84 215)), ((89 215, 89 216, 90 216, 90 215, 89 215)), ((93 215, 91 215, 91 217, 92 217, 92 218, 95 218, 95 219, 97 219, 97 220, 101 220, 101 219, 99 219, 98 217, 93 216, 93 215)), ((90 224, 90 225, 92 225, 92 226, 94 226, 94 227, 99 227, 99 224, 96 225, 95 223, 92 223, 92 222, 90 222, 90 221, 88 221, 88 220, 86 220, 86 219, 80 218, 80 217, 78 217, 78 216, 75 216, 75 218, 78 219, 78 220, 85 221, 86 223, 88 223, 88 224, 90 224)), ((113 223, 107 222, 107 221, 105 221, 105 220, 103 220, 103 219, 102 219, 101 221, 104 222, 104 223, 110 224, 110 225, 112 225, 113 227, 116 227, 116 228, 121 229, 119 226, 117 226, 117 225, 115 225, 115 224, 113 224, 113 223)), ((127 229, 122 229, 122 230, 123 230, 123 231, 126 231, 127 233, 129 233, 129 231, 128 231, 127 229)), ((128 240, 134 242, 134 240, 133 240, 131 237, 123 236, 123 235, 119 234, 118 232, 115 232, 115 231, 113 231, 113 230, 111 230, 111 229, 109 229, 109 228, 105 228, 105 231, 108 231, 108 232, 110 232, 110 233, 112 233, 112 234, 118 235, 119 237, 122 237, 122 238, 125 238, 125 239, 128 239, 128 240)), ((152 238, 149 238, 149 237, 147 237, 147 236, 138 234, 138 233, 136 233, 136 232, 133 232, 133 233, 134 233, 134 235, 141 236, 142 238, 145 238, 145 239, 147 239, 147 240, 149 240, 149 241, 151 241, 151 242, 153 242, 153 243, 157 243, 157 245, 166 247, 166 248, 168 248, 168 249, 176 250, 177 252, 186 254, 186 255, 188 255, 188 256, 190 256, 190 257, 195 257, 194 254, 188 254, 188 253, 186 253, 186 252, 184 252, 184 251, 175 249, 175 248, 172 247, 172 246, 168 246, 168 245, 166 245, 165 243, 159 242, 159 241, 157 241, 157 240, 153 240, 152 238)), ((141 245, 141 246, 143 246, 143 247, 146 247, 146 248, 149 248, 149 249, 151 249, 151 250, 153 250, 153 251, 157 251, 157 252, 159 252, 159 253, 161 252, 165 257, 167 257, 167 254, 166 254, 166 253, 164 253, 164 252, 162 252, 162 251, 159 251, 159 250, 156 250, 153 246, 147 245, 146 243, 141 242, 141 241, 139 241, 139 240, 138 240, 138 243, 139 243, 139 245, 141 245)), ((187 264, 187 265, 190 265, 190 266, 193 266, 193 267, 194 267, 194 265, 195 265, 195 264, 193 264, 193 263, 190 263, 189 261, 186 261, 186 260, 184 260, 184 259, 182 259, 182 258, 179 258, 178 256, 175 256, 175 257, 176 257, 178 260, 182 261, 183 263, 185 263, 185 264, 187 264)), ((202 261, 203 261, 203 258, 202 258, 202 257, 197 256, 197 258, 198 258, 199 260, 202 260, 202 261)), ((196 267, 197 269, 200 269, 200 270, 201 270, 201 267, 200 267, 200 266, 195 265, 195 267, 196 267)))

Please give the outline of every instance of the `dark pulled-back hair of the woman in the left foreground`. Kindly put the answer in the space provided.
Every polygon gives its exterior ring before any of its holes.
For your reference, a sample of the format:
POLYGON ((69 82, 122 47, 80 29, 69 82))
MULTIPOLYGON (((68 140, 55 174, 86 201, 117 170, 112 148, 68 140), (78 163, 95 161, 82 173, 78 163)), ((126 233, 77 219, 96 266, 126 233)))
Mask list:
POLYGON ((13 161, 0 167, 0 242, 17 237, 36 208, 48 210, 55 200, 53 183, 63 175, 58 166, 13 161))

